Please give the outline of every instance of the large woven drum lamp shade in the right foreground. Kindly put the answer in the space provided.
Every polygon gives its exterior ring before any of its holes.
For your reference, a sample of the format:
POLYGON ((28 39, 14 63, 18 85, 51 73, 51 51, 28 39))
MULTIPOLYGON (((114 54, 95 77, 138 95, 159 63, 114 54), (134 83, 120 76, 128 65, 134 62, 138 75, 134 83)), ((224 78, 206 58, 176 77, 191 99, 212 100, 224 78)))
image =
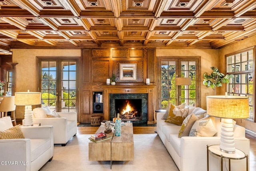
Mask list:
POLYGON ((249 100, 245 96, 211 95, 206 97, 207 114, 221 118, 249 117, 249 100))

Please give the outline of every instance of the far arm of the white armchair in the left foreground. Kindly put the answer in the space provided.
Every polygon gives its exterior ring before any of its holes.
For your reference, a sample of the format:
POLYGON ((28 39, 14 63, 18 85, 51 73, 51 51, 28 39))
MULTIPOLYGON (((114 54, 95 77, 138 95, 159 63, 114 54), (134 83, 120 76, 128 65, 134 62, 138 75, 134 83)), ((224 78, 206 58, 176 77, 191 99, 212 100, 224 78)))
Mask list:
POLYGON ((52 138, 53 139, 53 126, 22 126, 22 133, 25 138, 52 138))

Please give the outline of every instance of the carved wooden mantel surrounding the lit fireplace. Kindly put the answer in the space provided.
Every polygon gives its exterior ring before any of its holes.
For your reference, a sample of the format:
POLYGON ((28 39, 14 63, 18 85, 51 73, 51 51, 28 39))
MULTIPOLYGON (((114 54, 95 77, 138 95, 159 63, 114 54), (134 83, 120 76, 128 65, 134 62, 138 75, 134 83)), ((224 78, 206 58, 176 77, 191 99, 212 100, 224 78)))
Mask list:
POLYGON ((153 91, 156 85, 102 85, 104 89, 104 118, 109 120, 109 94, 146 93, 148 94, 148 124, 154 124, 153 91))

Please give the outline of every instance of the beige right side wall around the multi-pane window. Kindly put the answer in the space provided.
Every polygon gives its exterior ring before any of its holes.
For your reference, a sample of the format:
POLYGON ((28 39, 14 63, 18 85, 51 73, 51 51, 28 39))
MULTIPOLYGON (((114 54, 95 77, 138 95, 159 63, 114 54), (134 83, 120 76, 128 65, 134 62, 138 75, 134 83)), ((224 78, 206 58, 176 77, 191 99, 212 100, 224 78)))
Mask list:
MULTIPOLYGON (((252 46, 256 46, 256 36, 252 36, 250 38, 246 38, 242 41, 239 41, 235 44, 231 44, 225 48, 220 49, 220 68, 224 71, 226 71, 226 66, 225 66, 225 55, 226 54, 230 54, 232 52, 236 52, 239 50, 243 50, 246 48, 250 48, 252 46)), ((222 92, 224 92, 224 89, 222 89, 222 92)), ((241 125, 247 129, 250 129, 254 132, 256 132, 256 123, 251 122, 251 121, 247 121, 245 119, 239 119, 236 120, 236 123, 238 125, 241 125)))

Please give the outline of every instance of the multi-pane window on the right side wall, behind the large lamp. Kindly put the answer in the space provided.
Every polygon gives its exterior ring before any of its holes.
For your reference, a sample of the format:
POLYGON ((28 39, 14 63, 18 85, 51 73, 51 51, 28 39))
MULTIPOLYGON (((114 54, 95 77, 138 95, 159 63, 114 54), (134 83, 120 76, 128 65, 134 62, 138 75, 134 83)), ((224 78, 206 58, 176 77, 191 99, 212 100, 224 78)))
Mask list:
POLYGON ((226 55, 227 74, 232 74, 228 84, 229 95, 247 96, 249 98, 249 118, 254 121, 254 49, 226 55))

